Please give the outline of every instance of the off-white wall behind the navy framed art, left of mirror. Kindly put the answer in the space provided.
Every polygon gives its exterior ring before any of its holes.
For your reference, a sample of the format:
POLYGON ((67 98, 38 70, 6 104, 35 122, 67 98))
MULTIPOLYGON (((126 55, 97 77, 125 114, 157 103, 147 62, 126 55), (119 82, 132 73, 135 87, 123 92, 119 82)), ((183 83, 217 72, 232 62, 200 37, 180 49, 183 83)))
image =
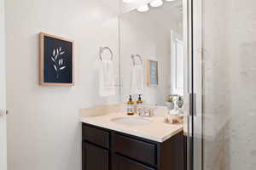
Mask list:
POLYGON ((99 97, 94 66, 101 45, 118 63, 118 2, 6 1, 9 170, 81 169, 79 109, 119 101, 99 97), (75 41, 74 87, 38 86, 40 31, 75 41))

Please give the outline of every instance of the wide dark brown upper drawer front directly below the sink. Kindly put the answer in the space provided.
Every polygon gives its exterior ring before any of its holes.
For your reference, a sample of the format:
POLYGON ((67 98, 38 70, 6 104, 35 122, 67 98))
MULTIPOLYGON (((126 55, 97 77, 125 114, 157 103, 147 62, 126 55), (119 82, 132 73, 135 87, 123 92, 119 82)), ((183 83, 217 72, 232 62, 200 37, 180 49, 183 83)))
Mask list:
POLYGON ((132 139, 116 133, 112 134, 111 148, 114 152, 151 166, 156 165, 156 145, 132 139))

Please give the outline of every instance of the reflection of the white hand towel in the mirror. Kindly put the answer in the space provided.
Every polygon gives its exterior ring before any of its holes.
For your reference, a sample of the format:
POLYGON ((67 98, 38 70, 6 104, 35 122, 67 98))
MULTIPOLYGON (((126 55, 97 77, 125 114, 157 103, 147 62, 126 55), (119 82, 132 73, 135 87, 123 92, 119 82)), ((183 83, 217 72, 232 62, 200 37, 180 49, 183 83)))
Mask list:
POLYGON ((143 94, 143 65, 134 65, 131 77, 131 94, 143 94))

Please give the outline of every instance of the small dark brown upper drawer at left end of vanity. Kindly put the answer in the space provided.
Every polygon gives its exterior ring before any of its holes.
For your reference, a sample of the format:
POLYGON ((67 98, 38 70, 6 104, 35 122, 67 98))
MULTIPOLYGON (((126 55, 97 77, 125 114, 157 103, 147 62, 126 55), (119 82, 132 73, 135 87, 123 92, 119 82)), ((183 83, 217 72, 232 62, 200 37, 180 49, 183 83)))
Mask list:
POLYGON ((83 124, 82 138, 90 143, 109 148, 109 133, 107 130, 83 124))

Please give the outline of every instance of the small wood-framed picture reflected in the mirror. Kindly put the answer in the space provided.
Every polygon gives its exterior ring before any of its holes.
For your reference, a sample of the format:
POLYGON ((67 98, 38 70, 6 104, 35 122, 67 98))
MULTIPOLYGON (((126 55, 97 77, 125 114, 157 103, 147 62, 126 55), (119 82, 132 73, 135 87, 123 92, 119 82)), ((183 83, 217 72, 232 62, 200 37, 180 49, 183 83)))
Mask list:
POLYGON ((158 61, 148 59, 147 84, 158 86, 158 61))

